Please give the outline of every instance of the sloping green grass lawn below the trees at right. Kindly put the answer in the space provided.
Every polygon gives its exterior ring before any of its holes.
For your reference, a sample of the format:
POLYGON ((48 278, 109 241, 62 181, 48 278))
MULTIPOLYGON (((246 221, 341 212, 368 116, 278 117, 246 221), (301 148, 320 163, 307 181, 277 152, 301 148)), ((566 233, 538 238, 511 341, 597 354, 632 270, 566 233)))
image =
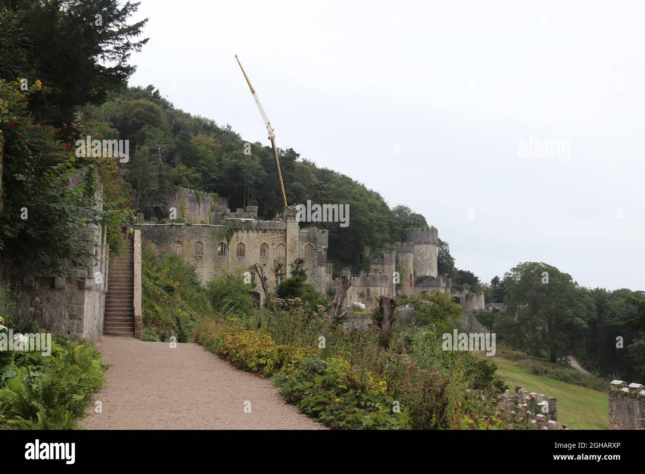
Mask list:
POLYGON ((499 375, 506 379, 508 390, 520 385, 528 391, 544 393, 557 399, 558 422, 571 430, 609 430, 609 400, 604 391, 591 390, 558 380, 531 375, 513 361, 493 357, 499 375))

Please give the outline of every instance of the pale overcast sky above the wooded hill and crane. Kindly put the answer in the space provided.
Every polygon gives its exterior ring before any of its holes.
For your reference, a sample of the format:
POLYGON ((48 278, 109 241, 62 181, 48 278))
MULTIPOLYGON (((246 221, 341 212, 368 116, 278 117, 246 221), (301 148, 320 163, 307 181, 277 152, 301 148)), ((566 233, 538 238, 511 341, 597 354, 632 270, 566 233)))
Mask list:
POLYGON ((544 261, 584 286, 645 290, 644 14, 143 0, 150 41, 130 85, 268 145, 237 54, 278 146, 422 213, 459 268, 490 281, 544 261))

